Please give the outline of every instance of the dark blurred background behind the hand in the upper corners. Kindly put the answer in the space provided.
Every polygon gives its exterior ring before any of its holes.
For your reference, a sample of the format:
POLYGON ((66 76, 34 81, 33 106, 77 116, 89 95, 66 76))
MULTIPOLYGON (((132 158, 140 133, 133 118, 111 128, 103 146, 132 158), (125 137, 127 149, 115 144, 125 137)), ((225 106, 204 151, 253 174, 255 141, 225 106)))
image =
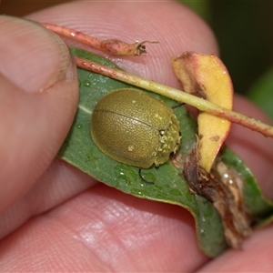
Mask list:
MULTIPOLYGON (((68 1, 3 0, 0 14, 22 16, 64 2, 68 1)), ((235 91, 247 96, 253 83, 272 67, 273 1, 179 2, 194 9, 212 27, 217 36, 221 58, 232 77, 235 91)), ((271 89, 269 91, 273 95, 273 89, 272 92, 271 89)))

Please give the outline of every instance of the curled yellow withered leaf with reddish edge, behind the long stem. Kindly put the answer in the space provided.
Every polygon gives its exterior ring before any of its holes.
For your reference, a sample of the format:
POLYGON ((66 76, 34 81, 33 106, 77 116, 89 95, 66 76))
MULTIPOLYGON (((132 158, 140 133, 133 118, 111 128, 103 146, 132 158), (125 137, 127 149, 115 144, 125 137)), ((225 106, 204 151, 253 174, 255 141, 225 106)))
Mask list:
MULTIPOLYGON (((186 52, 173 57, 172 66, 185 92, 196 93, 217 106, 232 109, 232 82, 226 66, 216 55, 186 52)), ((199 165, 209 172, 231 124, 205 112, 198 115, 197 123, 199 165)))

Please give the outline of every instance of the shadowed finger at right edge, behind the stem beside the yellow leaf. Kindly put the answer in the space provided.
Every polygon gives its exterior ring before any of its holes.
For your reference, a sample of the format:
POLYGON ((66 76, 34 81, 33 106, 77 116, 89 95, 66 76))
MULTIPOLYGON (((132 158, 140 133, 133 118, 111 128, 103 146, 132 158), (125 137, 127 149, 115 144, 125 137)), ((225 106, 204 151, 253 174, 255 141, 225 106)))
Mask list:
MULTIPOLYGON (((270 124, 266 116, 257 106, 247 99, 236 96, 234 110, 246 116, 252 116, 264 123, 270 124)), ((257 132, 239 125, 232 125, 227 137, 227 146, 241 157, 258 179, 266 197, 273 199, 273 141, 257 132)))

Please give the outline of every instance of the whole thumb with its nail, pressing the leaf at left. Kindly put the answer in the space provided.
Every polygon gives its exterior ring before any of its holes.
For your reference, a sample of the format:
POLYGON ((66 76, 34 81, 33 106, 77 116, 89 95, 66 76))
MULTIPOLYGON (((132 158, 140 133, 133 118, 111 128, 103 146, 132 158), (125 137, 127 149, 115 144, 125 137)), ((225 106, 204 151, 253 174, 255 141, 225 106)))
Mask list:
POLYGON ((56 156, 76 113, 76 66, 41 25, 0 16, 0 213, 56 156))

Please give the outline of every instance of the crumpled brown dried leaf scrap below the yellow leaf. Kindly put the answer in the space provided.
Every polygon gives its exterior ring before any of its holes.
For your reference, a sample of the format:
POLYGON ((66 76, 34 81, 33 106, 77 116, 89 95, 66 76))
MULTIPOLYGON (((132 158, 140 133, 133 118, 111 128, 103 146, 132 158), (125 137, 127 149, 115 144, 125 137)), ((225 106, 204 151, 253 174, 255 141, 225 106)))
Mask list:
POLYGON ((243 238, 251 233, 248 209, 242 194, 244 181, 221 161, 207 173, 198 165, 197 148, 192 150, 183 173, 191 191, 207 197, 217 209, 227 244, 232 248, 241 248, 243 238))

